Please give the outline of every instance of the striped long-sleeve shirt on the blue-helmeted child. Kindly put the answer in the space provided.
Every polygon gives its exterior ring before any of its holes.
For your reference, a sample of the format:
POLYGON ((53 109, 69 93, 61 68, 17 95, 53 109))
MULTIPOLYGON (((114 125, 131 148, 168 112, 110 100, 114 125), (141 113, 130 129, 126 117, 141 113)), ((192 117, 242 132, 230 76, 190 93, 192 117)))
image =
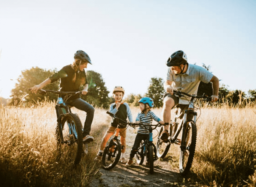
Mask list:
MULTIPOLYGON (((138 113, 136 120, 135 121, 140 121, 142 124, 144 125, 152 125, 152 121, 156 121, 159 122, 161 121, 159 117, 156 116, 156 114, 154 114, 151 110, 147 112, 147 114, 145 115, 144 113, 138 113)), ((149 129, 145 128, 143 125, 139 125, 138 128, 138 133, 141 134, 148 134, 149 133, 149 129)))

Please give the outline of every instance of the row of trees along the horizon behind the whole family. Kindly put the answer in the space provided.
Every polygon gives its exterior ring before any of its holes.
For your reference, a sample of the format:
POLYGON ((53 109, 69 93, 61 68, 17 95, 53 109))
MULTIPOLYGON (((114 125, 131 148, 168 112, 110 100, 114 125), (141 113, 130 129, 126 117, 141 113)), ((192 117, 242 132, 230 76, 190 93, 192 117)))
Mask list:
MULTIPOLYGON (((209 66, 206 67, 209 70, 209 66)), ((33 85, 40 84, 46 78, 50 77, 57 70, 46 70, 39 67, 32 67, 29 70, 24 70, 18 77, 15 88, 11 90, 11 103, 12 105, 18 106, 21 103, 32 103, 36 104, 38 102, 56 101, 56 94, 32 94, 28 91, 28 88, 33 85)), ((95 107, 102 107, 104 109, 109 108, 110 103, 114 102, 113 97, 109 97, 109 91, 105 86, 101 74, 94 71, 87 71, 86 73, 89 89, 88 94, 82 95, 82 99, 86 100, 95 107)), ((163 95, 164 95, 164 80, 163 78, 153 77, 150 79, 149 87, 144 95, 129 94, 125 97, 124 101, 131 106, 138 106, 138 101, 142 97, 150 97, 154 100, 155 107, 160 108, 163 106, 163 95)), ((59 80, 47 85, 44 89, 58 90, 60 82, 59 80)), ((205 84, 200 83, 198 88, 198 95, 212 95, 211 83, 205 84)), ((227 103, 230 106, 245 106, 248 103, 255 103, 256 100, 256 90, 249 90, 248 95, 241 90, 229 90, 226 85, 221 85, 219 89, 219 100, 218 104, 227 103)))

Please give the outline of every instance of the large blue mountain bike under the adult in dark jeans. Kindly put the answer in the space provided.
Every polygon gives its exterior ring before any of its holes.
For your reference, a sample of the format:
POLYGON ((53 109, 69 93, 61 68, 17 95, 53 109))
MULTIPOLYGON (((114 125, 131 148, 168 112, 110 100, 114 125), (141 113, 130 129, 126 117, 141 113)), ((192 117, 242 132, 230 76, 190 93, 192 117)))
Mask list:
POLYGON ((82 123, 77 114, 71 112, 71 107, 66 102, 74 95, 81 94, 78 92, 64 92, 55 90, 40 89, 40 94, 47 93, 58 94, 58 102, 55 106, 57 114, 57 151, 58 157, 66 156, 65 158, 71 162, 72 165, 79 164, 82 154, 88 153, 88 143, 83 142, 83 128, 82 123))

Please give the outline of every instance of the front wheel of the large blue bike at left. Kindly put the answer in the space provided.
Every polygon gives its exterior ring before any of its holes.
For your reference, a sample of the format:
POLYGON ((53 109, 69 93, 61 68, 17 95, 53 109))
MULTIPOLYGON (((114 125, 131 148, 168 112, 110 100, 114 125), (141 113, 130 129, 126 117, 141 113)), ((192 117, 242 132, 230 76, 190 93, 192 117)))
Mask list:
POLYGON ((58 158, 72 165, 79 164, 83 153, 82 123, 77 114, 63 115, 56 129, 58 158), (68 127, 72 126, 72 129, 68 127))

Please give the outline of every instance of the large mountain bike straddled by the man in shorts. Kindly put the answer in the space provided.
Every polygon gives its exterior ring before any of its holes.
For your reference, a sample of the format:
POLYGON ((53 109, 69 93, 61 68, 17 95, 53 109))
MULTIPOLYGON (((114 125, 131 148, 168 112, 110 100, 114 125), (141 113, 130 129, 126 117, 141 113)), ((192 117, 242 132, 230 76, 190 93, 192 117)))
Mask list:
POLYGON ((186 97, 189 99, 189 104, 186 106, 175 106, 174 120, 170 122, 169 137, 167 142, 160 139, 161 133, 164 131, 161 127, 159 136, 157 137, 157 156, 164 158, 169 151, 171 144, 180 145, 179 155, 179 172, 186 175, 192 166, 195 148, 196 148, 196 118, 195 99, 210 100, 210 96, 190 95, 185 92, 175 91, 174 94, 178 97, 186 97), (178 138, 181 133, 181 139, 178 138))

